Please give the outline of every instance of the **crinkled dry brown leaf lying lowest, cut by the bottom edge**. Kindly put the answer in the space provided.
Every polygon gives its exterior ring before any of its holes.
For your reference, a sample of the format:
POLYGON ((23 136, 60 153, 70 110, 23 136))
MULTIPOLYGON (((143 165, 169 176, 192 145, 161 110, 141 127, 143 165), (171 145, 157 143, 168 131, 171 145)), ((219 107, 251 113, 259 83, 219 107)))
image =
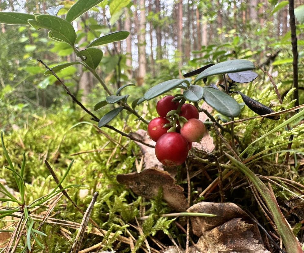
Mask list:
POLYGON ((216 228, 206 231, 198 240, 195 248, 204 253, 242 252, 270 253, 254 239, 253 224, 233 218, 216 228))

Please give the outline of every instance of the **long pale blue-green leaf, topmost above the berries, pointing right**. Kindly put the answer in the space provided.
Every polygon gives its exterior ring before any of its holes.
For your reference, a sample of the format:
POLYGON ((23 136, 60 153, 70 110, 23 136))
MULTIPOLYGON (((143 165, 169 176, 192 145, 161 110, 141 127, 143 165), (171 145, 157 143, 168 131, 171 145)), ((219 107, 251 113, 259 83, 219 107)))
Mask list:
POLYGON ((210 75, 234 73, 245 70, 252 70, 254 68, 254 64, 249 60, 227 60, 217 63, 204 70, 195 78, 194 83, 210 75))

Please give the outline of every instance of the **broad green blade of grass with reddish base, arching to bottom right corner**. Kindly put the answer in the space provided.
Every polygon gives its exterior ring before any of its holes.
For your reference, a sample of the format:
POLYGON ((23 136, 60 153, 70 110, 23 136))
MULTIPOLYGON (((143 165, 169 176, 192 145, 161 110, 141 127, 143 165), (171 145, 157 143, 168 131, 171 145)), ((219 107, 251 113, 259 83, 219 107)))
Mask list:
MULTIPOLYGON (((302 111, 304 112, 304 111, 302 111)), ((288 253, 303 253, 301 246, 292 233, 290 226, 288 225, 284 215, 282 214, 280 207, 276 201, 274 195, 266 187, 266 185, 261 181, 256 174, 254 174, 249 168, 247 168, 243 163, 240 163, 234 157, 225 153, 229 160, 235 164, 235 166, 245 174, 249 180, 256 187, 258 192, 261 194, 262 198, 265 201, 266 206, 269 209, 269 212, 272 215, 273 221, 275 222, 277 229, 282 237, 283 243, 288 253)))

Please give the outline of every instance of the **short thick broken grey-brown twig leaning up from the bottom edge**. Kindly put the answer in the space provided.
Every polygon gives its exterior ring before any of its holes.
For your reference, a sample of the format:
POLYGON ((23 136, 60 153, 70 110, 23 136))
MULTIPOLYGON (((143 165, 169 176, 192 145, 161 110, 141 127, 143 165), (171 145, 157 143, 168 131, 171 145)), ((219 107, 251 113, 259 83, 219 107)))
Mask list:
POLYGON ((80 224, 80 228, 78 230, 78 233, 76 235, 75 241, 74 241, 72 249, 71 249, 71 253, 77 253, 80 250, 81 242, 82 242, 84 233, 86 232, 87 224, 89 222, 89 217, 93 210, 94 204, 97 200, 97 196, 98 196, 98 192, 95 192, 92 197, 91 203, 87 208, 87 211, 84 213, 82 222, 80 224))

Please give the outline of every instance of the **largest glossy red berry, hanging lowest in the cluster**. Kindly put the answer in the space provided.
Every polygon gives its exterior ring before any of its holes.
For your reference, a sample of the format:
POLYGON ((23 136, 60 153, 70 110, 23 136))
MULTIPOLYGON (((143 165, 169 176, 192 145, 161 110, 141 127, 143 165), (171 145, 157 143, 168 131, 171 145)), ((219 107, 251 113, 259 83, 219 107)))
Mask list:
POLYGON ((178 166, 187 159, 188 142, 178 133, 163 134, 155 145, 155 155, 165 166, 178 166))

